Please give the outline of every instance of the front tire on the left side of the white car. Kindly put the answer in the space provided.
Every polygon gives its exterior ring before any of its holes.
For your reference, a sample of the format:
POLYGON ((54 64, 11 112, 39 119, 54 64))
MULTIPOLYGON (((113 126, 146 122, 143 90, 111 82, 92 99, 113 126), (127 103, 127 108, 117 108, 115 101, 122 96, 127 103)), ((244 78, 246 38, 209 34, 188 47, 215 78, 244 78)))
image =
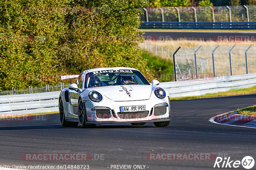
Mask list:
POLYGON ((83 100, 80 98, 78 101, 78 121, 79 121, 79 125, 82 128, 94 128, 96 127, 96 124, 86 124, 86 111, 84 108, 84 102, 83 100))

